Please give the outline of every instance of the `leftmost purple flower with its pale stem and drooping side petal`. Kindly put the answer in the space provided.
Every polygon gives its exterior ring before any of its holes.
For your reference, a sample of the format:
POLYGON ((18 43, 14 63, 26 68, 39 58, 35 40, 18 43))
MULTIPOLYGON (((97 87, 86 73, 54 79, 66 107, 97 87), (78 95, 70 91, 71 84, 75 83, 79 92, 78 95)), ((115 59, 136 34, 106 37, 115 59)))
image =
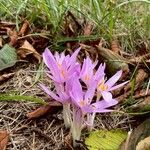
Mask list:
POLYGON ((70 127, 70 96, 66 90, 67 81, 75 74, 79 74, 80 64, 76 61, 76 57, 80 51, 78 48, 71 56, 65 56, 64 53, 53 56, 49 49, 45 49, 43 60, 49 68, 48 76, 54 81, 56 94, 49 90, 46 86, 40 84, 40 87, 53 99, 63 104, 63 118, 66 127, 70 127))

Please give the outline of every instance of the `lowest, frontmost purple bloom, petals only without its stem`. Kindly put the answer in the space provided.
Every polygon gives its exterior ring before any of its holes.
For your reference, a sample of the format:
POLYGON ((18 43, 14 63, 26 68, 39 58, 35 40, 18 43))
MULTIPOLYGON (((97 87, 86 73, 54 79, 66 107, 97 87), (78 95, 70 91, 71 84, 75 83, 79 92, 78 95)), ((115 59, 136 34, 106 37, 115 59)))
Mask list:
POLYGON ((92 103, 92 99, 95 94, 95 89, 96 89, 96 82, 95 83, 93 82, 93 85, 90 86, 87 89, 87 91, 83 91, 79 80, 74 79, 72 91, 70 92, 72 102, 76 105, 76 107, 80 108, 83 113, 112 111, 107 109, 108 107, 117 104, 117 101, 112 97, 109 97, 109 103, 104 100, 92 103))

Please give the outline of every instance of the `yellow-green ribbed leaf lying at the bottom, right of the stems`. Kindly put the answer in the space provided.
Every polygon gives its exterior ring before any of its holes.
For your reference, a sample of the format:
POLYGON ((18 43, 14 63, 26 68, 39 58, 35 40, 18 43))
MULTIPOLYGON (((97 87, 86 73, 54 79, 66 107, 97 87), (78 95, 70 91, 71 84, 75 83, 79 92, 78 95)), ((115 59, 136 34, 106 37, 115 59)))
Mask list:
POLYGON ((85 144, 89 150, 118 150, 126 137, 127 133, 122 130, 99 130, 91 132, 85 144))

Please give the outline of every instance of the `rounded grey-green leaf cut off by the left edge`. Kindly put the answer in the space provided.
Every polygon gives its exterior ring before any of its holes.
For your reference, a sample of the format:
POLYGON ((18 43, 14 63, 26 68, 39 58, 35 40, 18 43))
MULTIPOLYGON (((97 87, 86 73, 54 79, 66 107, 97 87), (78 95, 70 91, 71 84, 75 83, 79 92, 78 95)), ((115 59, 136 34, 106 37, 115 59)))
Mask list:
POLYGON ((17 53, 15 48, 5 44, 0 50, 0 71, 12 67, 17 62, 17 53))

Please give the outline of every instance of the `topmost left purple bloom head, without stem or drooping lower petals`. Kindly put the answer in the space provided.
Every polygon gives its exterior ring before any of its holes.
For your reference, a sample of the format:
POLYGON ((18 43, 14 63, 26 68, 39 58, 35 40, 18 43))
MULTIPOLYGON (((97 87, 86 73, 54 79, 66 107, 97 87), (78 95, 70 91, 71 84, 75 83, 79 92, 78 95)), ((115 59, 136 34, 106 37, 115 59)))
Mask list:
POLYGON ((43 53, 43 60, 49 68, 48 76, 55 82, 64 83, 74 73, 79 73, 80 65, 76 62, 76 57, 80 51, 78 48, 71 56, 64 53, 53 55, 48 48, 43 53))

